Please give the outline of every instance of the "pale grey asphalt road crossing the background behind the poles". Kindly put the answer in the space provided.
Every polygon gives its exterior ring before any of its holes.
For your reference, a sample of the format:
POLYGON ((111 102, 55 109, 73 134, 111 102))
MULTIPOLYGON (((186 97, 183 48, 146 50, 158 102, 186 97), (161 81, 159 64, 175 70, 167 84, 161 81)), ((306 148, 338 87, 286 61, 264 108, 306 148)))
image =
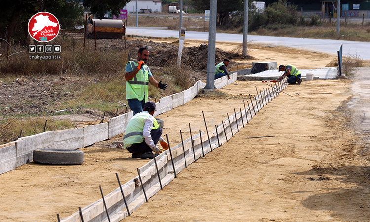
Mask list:
MULTIPOLYGON (((149 27, 127 27, 127 35, 140 35, 150 37, 179 37, 179 31, 149 27)), ((185 39, 208 40, 208 32, 187 31, 185 39)), ((216 33, 216 41, 242 42, 242 34, 216 33)), ((248 42, 286 46, 313 50, 337 55, 340 45, 343 44, 343 55, 357 55, 361 59, 370 60, 370 41, 344 41, 312 38, 290 38, 273 36, 248 35, 248 42)))

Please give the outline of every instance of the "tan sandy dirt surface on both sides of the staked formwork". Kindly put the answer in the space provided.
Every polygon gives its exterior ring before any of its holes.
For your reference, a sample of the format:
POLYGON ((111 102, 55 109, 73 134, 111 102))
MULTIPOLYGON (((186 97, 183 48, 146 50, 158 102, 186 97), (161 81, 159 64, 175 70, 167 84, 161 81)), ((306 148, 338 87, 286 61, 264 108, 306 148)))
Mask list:
MULTIPOLYGON (((276 50, 272 48, 272 50, 276 50)), ((281 50, 278 63, 295 64, 281 50)), ((252 51, 254 52, 254 51, 252 51)), ((255 50, 257 52, 257 50, 255 50)), ((252 55, 269 58, 276 51, 252 55)), ((310 64, 312 52, 301 51, 310 64)), ((318 67, 334 56, 318 54, 318 67), (321 58, 321 59, 320 59, 321 58), (329 59, 325 59, 329 58, 329 59), (321 63, 320 63, 321 61, 321 63)), ((299 62, 303 64, 303 61, 299 62)), ((253 221, 365 222, 370 219, 368 144, 356 132, 347 107, 355 80, 312 80, 288 86, 235 134, 228 143, 180 172, 123 221, 253 221), (250 138, 256 136, 273 136, 250 138)), ((219 90, 226 95, 203 95, 158 117, 170 144, 192 132, 213 128, 247 103, 248 94, 267 88, 260 81, 237 81, 219 90)), ((148 160, 131 159, 113 141, 123 135, 82 148, 79 166, 34 163, 0 175, 0 221, 57 221, 101 198, 136 176, 148 160)))

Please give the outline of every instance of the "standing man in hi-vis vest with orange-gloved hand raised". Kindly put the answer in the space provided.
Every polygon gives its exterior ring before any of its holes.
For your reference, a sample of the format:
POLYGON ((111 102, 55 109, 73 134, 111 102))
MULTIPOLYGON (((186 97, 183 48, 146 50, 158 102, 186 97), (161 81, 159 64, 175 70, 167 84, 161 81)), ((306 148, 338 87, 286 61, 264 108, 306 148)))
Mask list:
POLYGON ((136 61, 128 61, 126 65, 126 99, 134 115, 142 112, 144 104, 148 101, 149 82, 151 85, 166 90, 167 83, 154 79, 149 67, 146 65, 149 58, 148 47, 141 47, 136 61))

